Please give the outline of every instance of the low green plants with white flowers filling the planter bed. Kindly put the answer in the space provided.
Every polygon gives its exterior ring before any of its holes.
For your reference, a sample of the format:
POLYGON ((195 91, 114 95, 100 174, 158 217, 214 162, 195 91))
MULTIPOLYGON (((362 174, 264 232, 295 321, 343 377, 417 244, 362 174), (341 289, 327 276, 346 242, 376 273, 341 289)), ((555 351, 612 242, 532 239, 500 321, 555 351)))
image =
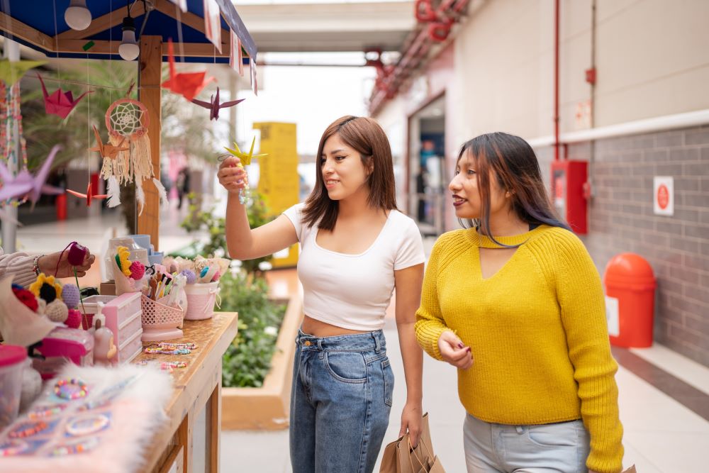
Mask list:
POLYGON ((225 387, 260 387, 271 369, 285 306, 268 299, 265 279, 243 272, 220 279, 222 311, 239 313, 239 332, 222 359, 225 387))

